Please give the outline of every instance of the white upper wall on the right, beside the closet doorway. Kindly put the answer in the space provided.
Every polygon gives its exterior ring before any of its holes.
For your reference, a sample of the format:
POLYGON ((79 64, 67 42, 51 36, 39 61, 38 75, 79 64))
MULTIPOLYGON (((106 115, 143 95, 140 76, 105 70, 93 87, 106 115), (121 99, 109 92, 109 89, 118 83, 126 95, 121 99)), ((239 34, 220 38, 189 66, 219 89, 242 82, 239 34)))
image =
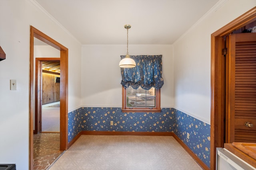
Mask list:
POLYGON ((220 0, 174 43, 174 107, 210 124, 211 34, 256 6, 256 0, 220 0))

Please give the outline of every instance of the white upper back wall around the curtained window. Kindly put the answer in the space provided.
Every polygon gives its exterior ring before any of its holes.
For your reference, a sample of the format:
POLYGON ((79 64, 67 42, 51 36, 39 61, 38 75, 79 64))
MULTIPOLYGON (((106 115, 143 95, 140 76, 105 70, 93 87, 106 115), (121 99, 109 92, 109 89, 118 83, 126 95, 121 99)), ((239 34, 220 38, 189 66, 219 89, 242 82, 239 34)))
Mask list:
MULTIPOLYGON (((129 45, 128 49, 130 55, 162 55, 161 107, 173 107, 172 45, 129 45)), ((122 107, 120 55, 126 55, 126 45, 83 45, 82 106, 122 107)))

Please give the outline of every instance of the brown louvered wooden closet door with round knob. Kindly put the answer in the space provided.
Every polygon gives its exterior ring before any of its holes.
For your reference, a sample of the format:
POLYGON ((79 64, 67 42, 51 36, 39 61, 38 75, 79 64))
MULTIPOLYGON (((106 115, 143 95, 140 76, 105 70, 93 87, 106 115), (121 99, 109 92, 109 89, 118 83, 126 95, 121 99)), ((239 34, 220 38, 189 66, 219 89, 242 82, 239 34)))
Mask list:
POLYGON ((256 143, 256 33, 229 36, 230 141, 256 143))

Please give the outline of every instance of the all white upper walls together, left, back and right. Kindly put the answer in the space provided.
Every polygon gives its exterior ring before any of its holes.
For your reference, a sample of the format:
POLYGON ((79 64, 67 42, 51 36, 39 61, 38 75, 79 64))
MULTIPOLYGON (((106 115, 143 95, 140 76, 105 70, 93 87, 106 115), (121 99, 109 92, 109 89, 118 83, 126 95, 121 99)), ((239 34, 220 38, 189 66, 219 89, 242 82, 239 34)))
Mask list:
MULTIPOLYGON (((254 6, 256 0, 228 0, 173 47, 129 45, 130 55, 163 55, 161 107, 175 106, 210 122, 210 34, 254 6)), ((68 111, 121 107, 118 63, 126 46, 88 45, 81 52, 80 43, 30 0, 0 0, 0 16, 0 46, 6 53, 0 61, 0 164, 28 169, 30 25, 68 48, 68 111), (17 80, 17 90, 10 90, 10 79, 17 80)))

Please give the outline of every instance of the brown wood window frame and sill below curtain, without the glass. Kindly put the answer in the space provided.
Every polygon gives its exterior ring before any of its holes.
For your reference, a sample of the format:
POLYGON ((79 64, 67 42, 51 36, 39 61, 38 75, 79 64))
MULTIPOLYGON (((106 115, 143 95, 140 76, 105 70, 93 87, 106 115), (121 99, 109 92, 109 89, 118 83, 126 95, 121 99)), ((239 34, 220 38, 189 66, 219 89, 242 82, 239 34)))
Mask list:
POLYGON ((161 92, 155 89, 156 107, 126 107, 126 88, 122 86, 122 112, 161 112, 161 92))

